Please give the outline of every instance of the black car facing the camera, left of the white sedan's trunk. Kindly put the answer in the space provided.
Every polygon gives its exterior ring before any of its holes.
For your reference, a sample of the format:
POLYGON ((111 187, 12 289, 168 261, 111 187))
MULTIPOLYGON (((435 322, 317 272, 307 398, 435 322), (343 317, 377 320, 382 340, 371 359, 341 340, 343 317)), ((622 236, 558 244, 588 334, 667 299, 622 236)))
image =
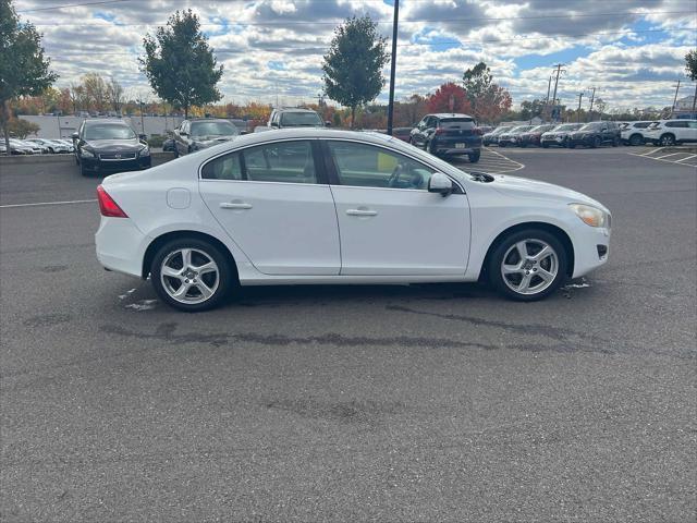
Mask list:
POLYGON ((73 133, 75 162, 83 177, 150 167, 150 148, 123 120, 85 120, 73 133))

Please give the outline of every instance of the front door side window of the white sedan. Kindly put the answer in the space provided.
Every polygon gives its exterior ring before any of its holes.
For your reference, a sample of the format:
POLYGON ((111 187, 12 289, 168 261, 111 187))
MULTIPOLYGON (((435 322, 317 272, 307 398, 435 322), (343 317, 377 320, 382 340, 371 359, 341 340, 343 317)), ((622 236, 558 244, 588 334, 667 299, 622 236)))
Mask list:
POLYGON ((426 191, 432 169, 372 145, 328 142, 342 185, 426 191))

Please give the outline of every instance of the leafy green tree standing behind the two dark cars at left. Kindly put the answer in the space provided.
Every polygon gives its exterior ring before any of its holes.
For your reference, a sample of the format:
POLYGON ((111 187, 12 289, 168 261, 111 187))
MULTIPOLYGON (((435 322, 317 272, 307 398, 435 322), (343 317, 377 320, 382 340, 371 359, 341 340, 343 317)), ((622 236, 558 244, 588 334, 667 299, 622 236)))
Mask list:
POLYGON ((152 90, 188 118, 192 106, 203 106, 222 98, 216 84, 222 77, 213 50, 200 32, 198 16, 189 9, 176 11, 159 27, 155 36, 143 39, 145 57, 140 69, 152 90))

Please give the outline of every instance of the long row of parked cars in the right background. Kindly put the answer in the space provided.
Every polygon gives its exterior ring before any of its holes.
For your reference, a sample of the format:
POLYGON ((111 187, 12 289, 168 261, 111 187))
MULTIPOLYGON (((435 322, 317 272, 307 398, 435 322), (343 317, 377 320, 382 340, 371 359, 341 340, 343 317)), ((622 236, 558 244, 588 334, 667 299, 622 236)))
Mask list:
POLYGON ((697 143, 697 120, 643 122, 562 123, 501 125, 482 137, 484 145, 499 147, 600 147, 653 144, 670 146, 697 143))

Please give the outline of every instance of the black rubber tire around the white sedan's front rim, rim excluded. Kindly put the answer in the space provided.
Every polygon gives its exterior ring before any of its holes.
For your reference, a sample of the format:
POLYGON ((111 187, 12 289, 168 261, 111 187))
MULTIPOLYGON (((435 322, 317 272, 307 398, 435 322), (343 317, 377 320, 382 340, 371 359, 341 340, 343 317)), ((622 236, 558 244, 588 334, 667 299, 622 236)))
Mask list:
POLYGON ((509 234, 502 241, 498 242, 498 244, 491 252, 491 256, 489 257, 487 272, 489 276, 489 283, 500 294, 510 300, 515 300, 518 302, 535 302, 552 294, 554 291, 557 291, 557 289, 561 287, 564 281, 566 281, 567 267, 568 259, 566 256, 566 251, 564 250, 562 242, 560 242, 554 234, 540 229, 523 229, 521 231, 509 234), (505 282, 503 281, 503 276, 501 275, 501 263, 506 251, 511 247, 511 245, 526 239, 541 240, 548 243, 557 252, 557 259, 559 262, 559 270, 552 284, 543 291, 530 295, 518 294, 517 292, 513 291, 511 288, 509 288, 509 285, 505 284, 505 282))

